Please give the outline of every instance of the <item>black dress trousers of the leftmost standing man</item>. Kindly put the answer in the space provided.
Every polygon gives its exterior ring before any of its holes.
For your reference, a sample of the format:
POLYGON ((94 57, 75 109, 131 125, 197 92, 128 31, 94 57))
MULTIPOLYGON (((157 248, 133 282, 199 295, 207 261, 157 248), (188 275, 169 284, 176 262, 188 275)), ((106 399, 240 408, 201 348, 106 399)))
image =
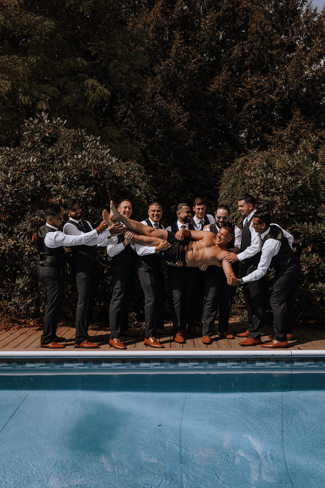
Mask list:
POLYGON ((44 326, 40 336, 40 344, 44 346, 53 342, 57 334, 57 323, 64 296, 64 270, 39 266, 37 274, 45 298, 44 326))

